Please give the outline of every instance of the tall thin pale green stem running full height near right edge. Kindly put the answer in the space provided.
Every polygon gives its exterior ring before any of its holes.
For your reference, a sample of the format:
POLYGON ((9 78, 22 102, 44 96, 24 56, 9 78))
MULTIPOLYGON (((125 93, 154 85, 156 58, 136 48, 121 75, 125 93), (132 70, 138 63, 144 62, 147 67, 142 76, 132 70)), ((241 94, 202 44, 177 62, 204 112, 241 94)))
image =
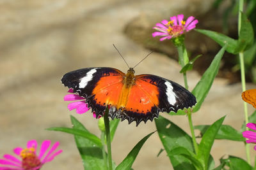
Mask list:
MULTIPOLYGON (((238 11, 238 36, 240 36, 240 30, 241 30, 241 20, 242 20, 242 12, 243 12, 243 6, 244 1, 239 0, 239 11, 238 11)), ((245 86, 245 73, 244 73, 244 53, 239 53, 239 62, 240 62, 240 69, 241 69, 241 83, 242 83, 242 90, 243 92, 246 90, 245 86)), ((244 102, 244 120, 245 124, 248 124, 248 110, 247 110, 247 104, 244 102)), ((246 131, 248 131, 248 127, 246 127, 246 131)), ((245 143, 245 150, 246 150, 246 158, 248 164, 251 164, 250 159, 250 145, 249 143, 245 143)))

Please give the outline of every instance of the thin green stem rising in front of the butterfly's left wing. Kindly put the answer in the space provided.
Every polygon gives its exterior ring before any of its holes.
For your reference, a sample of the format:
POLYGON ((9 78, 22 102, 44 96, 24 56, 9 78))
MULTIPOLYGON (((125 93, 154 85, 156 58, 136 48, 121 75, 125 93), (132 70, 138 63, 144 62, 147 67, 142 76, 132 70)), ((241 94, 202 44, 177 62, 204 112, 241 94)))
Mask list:
POLYGON ((111 139, 110 139, 110 129, 109 129, 109 119, 108 119, 108 106, 104 113, 104 124, 105 124, 105 131, 106 131, 106 139, 107 139, 107 148, 108 148, 108 168, 109 170, 113 170, 112 167, 112 154, 111 154, 111 139))

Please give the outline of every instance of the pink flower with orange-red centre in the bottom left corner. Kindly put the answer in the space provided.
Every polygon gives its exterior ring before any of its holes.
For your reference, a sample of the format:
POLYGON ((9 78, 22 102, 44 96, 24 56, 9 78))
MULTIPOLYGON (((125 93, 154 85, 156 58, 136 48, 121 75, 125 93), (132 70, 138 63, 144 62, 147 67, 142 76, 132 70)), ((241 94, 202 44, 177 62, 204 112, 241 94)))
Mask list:
POLYGON ((59 155, 62 150, 54 152, 59 146, 59 142, 54 143, 48 153, 45 152, 51 145, 51 141, 43 141, 40 152, 36 155, 36 140, 28 141, 27 148, 15 148, 13 152, 18 155, 20 159, 14 157, 13 155, 5 154, 4 159, 0 159, 0 170, 37 170, 40 169, 46 162, 50 162, 57 155, 59 155), (44 156, 45 155, 45 156, 44 156), (3 166, 1 166, 3 165, 3 166))

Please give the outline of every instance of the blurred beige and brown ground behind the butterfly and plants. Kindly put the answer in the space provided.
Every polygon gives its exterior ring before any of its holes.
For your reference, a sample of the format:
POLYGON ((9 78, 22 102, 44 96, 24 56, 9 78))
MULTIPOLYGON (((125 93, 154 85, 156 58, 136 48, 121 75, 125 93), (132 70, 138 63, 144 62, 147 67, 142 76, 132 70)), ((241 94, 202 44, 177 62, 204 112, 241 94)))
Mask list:
MULTIPOLYGON (((126 73, 127 66, 113 48, 114 43, 130 66, 154 51, 136 67, 136 74, 156 74, 184 85, 176 49, 170 41, 160 43, 158 38, 152 38, 152 27, 156 22, 184 13, 184 19, 191 15, 198 19, 197 28, 237 38, 236 7, 236 1, 232 0, 0 1, 0 156, 12 153, 17 146, 26 146, 30 139, 39 143, 51 139, 60 141, 63 153, 42 170, 83 169, 74 137, 45 131, 49 127, 71 127, 70 115, 73 115, 90 132, 100 135, 98 121, 90 111, 77 115, 76 111, 67 110, 68 103, 63 97, 68 89, 61 85, 61 76, 74 69, 95 66, 115 67, 126 73)), ((247 15, 255 19, 255 11, 247 15)), ((196 31, 186 34, 185 41, 191 59, 203 54, 188 73, 192 90, 220 46, 196 31)), ((255 51, 246 62, 247 89, 256 88, 252 83, 256 80, 255 51)), ((237 57, 226 52, 209 95, 201 110, 193 115, 194 125, 212 124, 226 115, 224 124, 240 129, 244 114, 239 77, 237 57)), ((254 111, 251 105, 248 110, 254 111)), ((190 134, 187 117, 161 115, 190 134)), ((126 120, 120 122, 112 143, 116 164, 141 138, 155 130, 154 122, 138 127, 134 122, 130 125, 126 120)), ((161 148, 155 133, 132 167, 172 169, 166 152, 157 157, 161 148)), ((218 159, 227 155, 245 159, 243 143, 239 142, 215 141, 211 154, 217 165, 218 159)))

